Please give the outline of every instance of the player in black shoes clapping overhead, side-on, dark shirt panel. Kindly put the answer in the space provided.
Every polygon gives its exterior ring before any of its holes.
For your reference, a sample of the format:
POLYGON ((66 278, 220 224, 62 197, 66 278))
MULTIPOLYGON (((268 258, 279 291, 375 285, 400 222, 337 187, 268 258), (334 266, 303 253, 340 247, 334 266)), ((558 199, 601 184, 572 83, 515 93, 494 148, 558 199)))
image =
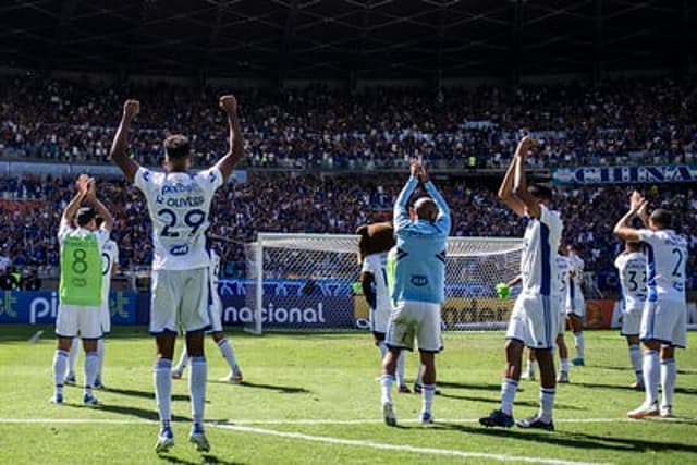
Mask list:
POLYGON ((529 147, 529 137, 523 137, 499 188, 499 197, 505 205, 518 217, 527 219, 521 257, 523 289, 515 301, 506 331, 501 406, 489 416, 479 418, 479 423, 505 428, 515 423, 513 402, 521 379, 523 348, 528 346, 535 351, 540 368, 540 409, 531 418, 517 421, 517 426, 552 431, 557 387, 552 347, 560 313, 555 252, 559 249, 562 221, 557 211, 549 209, 551 189, 541 185, 533 185, 528 189, 525 159, 529 147))

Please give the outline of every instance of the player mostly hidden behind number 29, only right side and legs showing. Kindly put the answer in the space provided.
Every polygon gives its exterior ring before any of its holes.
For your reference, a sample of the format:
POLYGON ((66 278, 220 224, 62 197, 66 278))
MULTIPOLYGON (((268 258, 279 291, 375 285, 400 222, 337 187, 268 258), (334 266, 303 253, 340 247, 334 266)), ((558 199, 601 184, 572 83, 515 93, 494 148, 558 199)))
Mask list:
MULTIPOLYGON (((222 357, 228 363, 230 367, 230 374, 221 379, 221 381, 228 381, 233 383, 241 383, 242 370, 240 369, 240 365, 237 365, 237 359, 235 357, 235 350, 232 346, 232 343, 225 338, 225 334, 222 332, 222 301, 220 299, 220 294, 218 294, 218 280, 220 277, 220 256, 213 250, 210 249, 210 267, 208 269, 209 273, 209 286, 208 292, 210 293, 210 320, 211 320, 211 329, 210 336, 213 339, 218 348, 220 348, 220 353, 222 357)), ((188 364, 188 353, 186 352, 186 345, 182 345, 182 354, 179 357, 179 362, 176 366, 172 369, 172 378, 180 379, 182 375, 184 375, 184 369, 188 364)))

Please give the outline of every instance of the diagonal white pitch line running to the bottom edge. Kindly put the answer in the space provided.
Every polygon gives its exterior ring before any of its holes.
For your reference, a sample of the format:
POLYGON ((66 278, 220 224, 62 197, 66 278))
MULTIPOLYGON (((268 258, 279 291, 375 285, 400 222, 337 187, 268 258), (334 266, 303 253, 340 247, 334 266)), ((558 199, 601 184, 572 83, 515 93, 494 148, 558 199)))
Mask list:
POLYGON ((341 439, 341 438, 332 438, 327 436, 305 435, 302 432, 276 431, 272 429, 257 428, 257 427, 244 426, 244 425, 211 425, 211 426, 215 428, 223 428, 223 429, 230 429, 233 431, 241 431, 241 432, 252 432, 255 435, 276 436, 280 438, 298 439, 303 441, 313 441, 313 442, 323 442, 328 444, 370 448, 370 449, 378 449, 383 451, 408 452, 408 453, 415 453, 415 454, 421 454, 421 455, 444 455, 444 456, 462 457, 462 458, 491 458, 500 462, 526 462, 526 463, 550 464, 550 465, 600 465, 602 464, 601 462, 571 462, 571 461, 563 461, 559 458, 529 457, 529 456, 509 455, 509 454, 491 454, 487 452, 466 452, 466 451, 457 451, 457 450, 451 450, 451 449, 416 448, 407 444, 396 445, 396 444, 387 444, 382 442, 375 442, 375 441, 367 441, 367 440, 341 439))

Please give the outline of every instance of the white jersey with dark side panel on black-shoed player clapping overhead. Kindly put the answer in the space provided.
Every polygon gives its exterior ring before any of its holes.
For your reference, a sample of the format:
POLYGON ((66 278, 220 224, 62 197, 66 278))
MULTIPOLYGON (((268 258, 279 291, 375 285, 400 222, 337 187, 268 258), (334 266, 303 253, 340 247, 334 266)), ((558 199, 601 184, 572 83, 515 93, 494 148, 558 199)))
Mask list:
POLYGON ((558 211, 540 205, 540 218, 529 218, 523 236, 521 274, 523 293, 557 294, 557 250, 562 235, 562 220, 558 211))

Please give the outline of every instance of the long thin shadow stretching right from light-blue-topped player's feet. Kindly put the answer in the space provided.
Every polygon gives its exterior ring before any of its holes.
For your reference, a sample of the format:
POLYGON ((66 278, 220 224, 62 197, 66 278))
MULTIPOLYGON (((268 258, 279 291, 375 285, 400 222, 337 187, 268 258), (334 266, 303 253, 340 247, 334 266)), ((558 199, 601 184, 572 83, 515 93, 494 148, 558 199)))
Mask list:
POLYGON ((481 426, 467 426, 455 424, 435 424, 431 428, 461 431, 468 435, 488 436, 491 438, 510 438, 530 441, 536 444, 559 445, 574 450, 611 450, 616 452, 688 452, 696 453, 697 444, 680 442, 650 441, 636 438, 613 438, 608 436, 585 435, 579 432, 565 433, 563 431, 527 431, 521 429, 486 428, 481 426))

